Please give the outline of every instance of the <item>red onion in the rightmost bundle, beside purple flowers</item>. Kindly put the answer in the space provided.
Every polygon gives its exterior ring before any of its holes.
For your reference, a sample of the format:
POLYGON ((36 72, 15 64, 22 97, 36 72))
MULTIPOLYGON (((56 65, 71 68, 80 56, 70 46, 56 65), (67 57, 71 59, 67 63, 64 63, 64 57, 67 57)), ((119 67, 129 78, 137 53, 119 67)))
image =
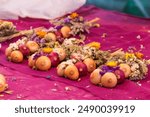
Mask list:
POLYGON ((117 76, 118 84, 123 83, 125 80, 125 74, 122 70, 116 70, 115 75, 117 76))

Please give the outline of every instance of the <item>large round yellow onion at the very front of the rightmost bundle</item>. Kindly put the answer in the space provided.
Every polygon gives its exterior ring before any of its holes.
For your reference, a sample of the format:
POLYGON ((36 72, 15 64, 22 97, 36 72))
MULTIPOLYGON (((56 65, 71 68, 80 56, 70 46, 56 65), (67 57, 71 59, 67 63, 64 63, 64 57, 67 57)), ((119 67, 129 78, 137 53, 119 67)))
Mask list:
POLYGON ((101 85, 107 88, 113 88, 117 85, 117 77, 112 72, 107 72, 101 77, 101 85))

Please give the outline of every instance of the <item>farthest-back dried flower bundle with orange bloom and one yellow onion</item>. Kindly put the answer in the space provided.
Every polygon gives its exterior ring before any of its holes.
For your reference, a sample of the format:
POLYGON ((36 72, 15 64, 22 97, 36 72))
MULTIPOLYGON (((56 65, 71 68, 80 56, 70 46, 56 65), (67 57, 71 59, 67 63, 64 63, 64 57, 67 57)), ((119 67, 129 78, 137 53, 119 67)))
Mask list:
POLYGON ((90 28, 100 26, 100 24, 97 23, 98 20, 99 18, 95 18, 91 21, 87 21, 77 13, 71 13, 63 18, 51 20, 50 23, 53 24, 53 27, 57 30, 60 30, 65 38, 68 38, 76 35, 84 37, 83 35, 85 33, 90 33, 90 28))

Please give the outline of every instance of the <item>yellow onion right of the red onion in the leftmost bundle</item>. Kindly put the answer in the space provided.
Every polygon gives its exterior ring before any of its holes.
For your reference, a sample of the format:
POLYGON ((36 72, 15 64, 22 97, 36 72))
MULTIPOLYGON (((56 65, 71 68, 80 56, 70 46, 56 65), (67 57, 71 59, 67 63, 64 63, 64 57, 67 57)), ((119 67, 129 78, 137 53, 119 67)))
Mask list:
POLYGON ((26 46, 27 46, 27 48, 29 48, 31 53, 34 53, 34 52, 38 51, 38 49, 39 49, 39 45, 34 41, 28 41, 26 43, 26 46))

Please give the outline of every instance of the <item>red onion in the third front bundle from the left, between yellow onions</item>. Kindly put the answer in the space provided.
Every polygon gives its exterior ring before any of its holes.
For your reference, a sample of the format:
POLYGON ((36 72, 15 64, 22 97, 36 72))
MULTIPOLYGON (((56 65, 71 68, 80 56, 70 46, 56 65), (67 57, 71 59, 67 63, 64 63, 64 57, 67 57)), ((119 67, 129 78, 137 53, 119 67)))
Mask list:
POLYGON ((77 67, 80 76, 85 76, 87 74, 87 66, 83 62, 77 62, 75 66, 77 67))

